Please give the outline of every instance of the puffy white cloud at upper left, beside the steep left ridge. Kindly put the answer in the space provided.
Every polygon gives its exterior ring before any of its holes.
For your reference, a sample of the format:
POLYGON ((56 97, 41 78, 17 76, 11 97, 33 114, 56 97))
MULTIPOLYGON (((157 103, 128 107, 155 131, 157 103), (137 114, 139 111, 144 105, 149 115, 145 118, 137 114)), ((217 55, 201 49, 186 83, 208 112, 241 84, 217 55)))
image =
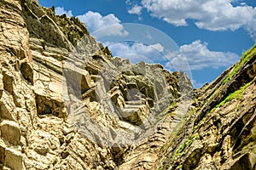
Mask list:
POLYGON ((121 21, 114 14, 102 16, 100 13, 89 11, 86 14, 79 15, 78 17, 79 20, 84 22, 90 32, 99 31, 102 29, 102 32, 98 32, 98 34, 104 34, 104 36, 128 35, 128 32, 125 31, 124 26, 120 24, 121 21), (109 26, 111 26, 111 29, 109 26), (108 27, 108 31, 103 29, 106 27, 108 27))

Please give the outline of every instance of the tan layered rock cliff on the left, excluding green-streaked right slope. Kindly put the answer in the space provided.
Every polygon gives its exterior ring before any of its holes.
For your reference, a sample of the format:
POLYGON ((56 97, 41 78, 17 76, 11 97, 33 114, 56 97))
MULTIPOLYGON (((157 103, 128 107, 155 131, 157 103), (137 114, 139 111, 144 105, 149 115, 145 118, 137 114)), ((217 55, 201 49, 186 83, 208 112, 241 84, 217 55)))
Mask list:
POLYGON ((78 19, 37 1, 1 6, 3 168, 123 168, 139 145, 164 143, 156 117, 192 90, 185 75, 113 59, 78 19))

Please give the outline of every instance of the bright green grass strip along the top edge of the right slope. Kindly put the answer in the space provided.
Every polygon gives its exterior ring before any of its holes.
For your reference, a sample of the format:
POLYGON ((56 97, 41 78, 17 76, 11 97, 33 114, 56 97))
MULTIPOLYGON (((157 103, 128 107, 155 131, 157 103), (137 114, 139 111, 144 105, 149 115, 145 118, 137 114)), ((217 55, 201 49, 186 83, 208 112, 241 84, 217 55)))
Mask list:
POLYGON ((226 77, 224 82, 222 83, 224 84, 228 82, 230 78, 233 77, 236 74, 236 72, 241 68, 241 66, 244 65, 247 62, 247 60, 253 56, 253 54, 256 54, 256 45, 254 45, 253 48, 250 48, 249 50, 247 50, 247 52, 242 54, 240 62, 235 65, 233 70, 230 72, 230 75, 226 77))

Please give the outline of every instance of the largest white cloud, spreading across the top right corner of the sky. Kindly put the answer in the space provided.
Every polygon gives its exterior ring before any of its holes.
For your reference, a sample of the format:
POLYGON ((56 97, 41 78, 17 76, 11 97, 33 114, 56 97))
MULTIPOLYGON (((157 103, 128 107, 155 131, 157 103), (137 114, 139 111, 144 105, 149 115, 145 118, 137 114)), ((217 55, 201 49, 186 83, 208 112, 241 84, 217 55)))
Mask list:
POLYGON ((174 26, 187 26, 187 20, 210 31, 235 31, 244 27, 256 41, 256 8, 242 3, 233 6, 231 0, 142 0, 152 16, 174 26))

